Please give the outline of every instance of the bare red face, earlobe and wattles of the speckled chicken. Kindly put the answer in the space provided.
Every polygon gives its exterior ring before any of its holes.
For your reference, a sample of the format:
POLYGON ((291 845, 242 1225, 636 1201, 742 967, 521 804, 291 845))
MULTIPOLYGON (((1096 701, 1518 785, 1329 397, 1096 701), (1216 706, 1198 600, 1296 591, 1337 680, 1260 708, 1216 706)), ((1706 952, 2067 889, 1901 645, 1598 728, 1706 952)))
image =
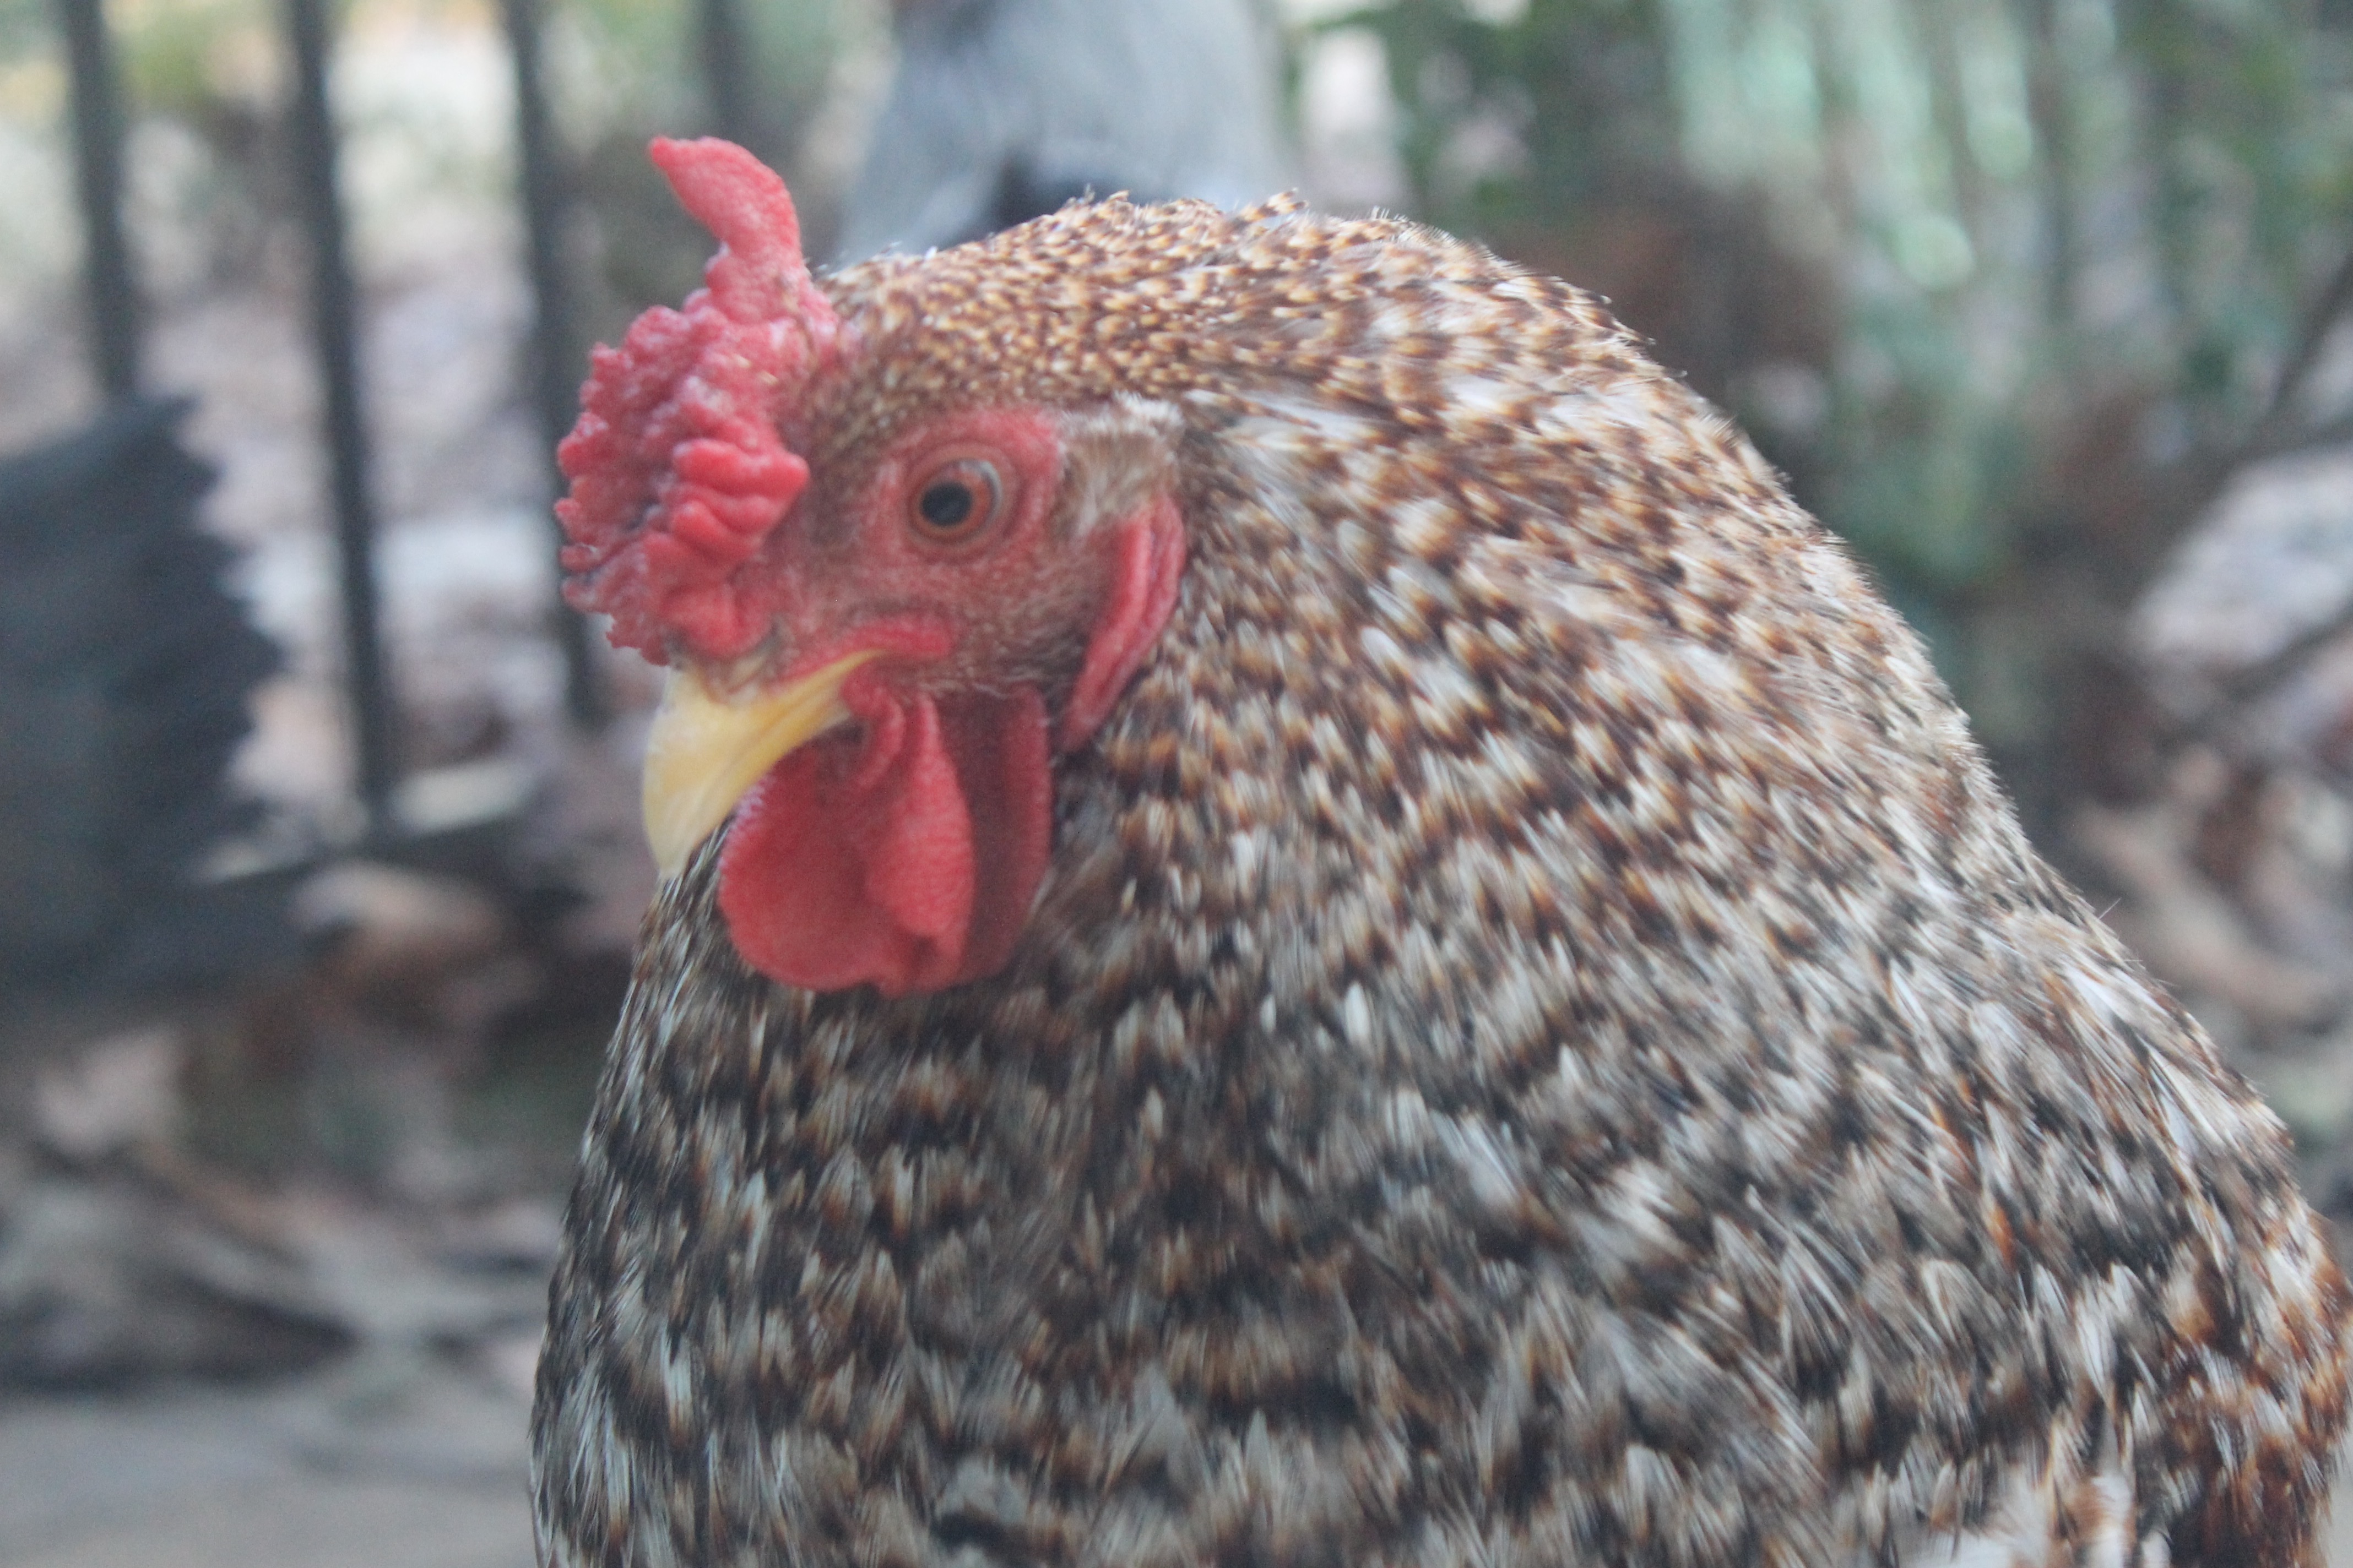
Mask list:
POLYGON ((779 762, 727 832, 720 912, 762 973, 906 994, 1012 957, 1052 846, 1052 752, 1104 722, 1184 569, 1172 498, 1064 538, 1059 487, 1049 414, 967 411, 906 440, 845 527, 786 524, 781 679, 882 656, 842 689, 859 724, 779 762), (939 527, 927 496, 962 515, 939 527))

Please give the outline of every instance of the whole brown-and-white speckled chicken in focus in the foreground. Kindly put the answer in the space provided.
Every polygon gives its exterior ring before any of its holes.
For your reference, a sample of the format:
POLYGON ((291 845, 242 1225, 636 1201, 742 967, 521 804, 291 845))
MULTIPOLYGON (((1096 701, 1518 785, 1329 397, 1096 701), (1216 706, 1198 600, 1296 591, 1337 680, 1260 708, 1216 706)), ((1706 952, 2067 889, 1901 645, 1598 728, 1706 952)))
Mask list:
POLYGON ((1595 301, 1280 200, 819 282, 654 158, 546 1563, 2315 1561, 2280 1124, 1595 301))

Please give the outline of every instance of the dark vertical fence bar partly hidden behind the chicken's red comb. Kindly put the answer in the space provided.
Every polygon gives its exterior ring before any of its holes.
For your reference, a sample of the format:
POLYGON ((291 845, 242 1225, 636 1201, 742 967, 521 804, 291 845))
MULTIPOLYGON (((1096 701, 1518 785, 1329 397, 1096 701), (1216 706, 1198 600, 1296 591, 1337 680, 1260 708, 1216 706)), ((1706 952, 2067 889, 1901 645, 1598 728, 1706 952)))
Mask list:
MULTIPOLYGON (((572 294, 565 284, 565 181, 555 155, 555 129, 548 122, 548 92, 539 56, 539 0, 499 0, 506 19, 506 45, 515 59, 515 148, 522 186, 522 237, 532 273, 532 411, 539 416, 539 444, 548 454, 548 477, 562 494, 565 477, 553 468, 555 442, 572 428, 579 402, 579 348, 572 329, 572 294)), ((581 729, 605 722, 605 691, 598 682, 595 644, 588 618, 562 599, 553 607, 555 639, 565 651, 565 710, 581 729)))

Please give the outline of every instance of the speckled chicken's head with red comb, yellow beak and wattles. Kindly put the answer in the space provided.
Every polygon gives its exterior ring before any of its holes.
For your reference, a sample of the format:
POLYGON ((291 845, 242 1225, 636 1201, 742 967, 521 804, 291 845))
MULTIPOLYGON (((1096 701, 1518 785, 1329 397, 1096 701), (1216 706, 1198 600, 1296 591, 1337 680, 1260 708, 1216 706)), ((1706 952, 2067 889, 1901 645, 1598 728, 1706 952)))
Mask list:
POLYGON ((652 155, 720 252, 595 353, 558 517, 569 602, 673 670, 654 856, 727 825, 720 912, 776 980, 988 976, 1045 877, 1054 752, 1174 607, 1167 449, 1021 400, 878 418, 892 367, 812 280, 784 181, 727 141, 652 155))

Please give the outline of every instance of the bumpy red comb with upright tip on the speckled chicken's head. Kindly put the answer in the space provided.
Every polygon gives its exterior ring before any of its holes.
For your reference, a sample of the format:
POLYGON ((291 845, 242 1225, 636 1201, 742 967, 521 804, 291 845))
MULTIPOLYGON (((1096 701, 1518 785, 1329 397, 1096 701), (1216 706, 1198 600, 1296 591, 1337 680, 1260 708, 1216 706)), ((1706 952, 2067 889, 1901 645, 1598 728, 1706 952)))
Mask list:
POLYGON ((598 348, 555 449, 572 496, 565 597, 612 616, 614 646, 734 658, 774 607, 739 571, 809 482, 779 423, 833 353, 835 315, 800 256, 776 172, 732 141, 652 146, 678 202, 720 240, 685 310, 640 315, 598 348))

